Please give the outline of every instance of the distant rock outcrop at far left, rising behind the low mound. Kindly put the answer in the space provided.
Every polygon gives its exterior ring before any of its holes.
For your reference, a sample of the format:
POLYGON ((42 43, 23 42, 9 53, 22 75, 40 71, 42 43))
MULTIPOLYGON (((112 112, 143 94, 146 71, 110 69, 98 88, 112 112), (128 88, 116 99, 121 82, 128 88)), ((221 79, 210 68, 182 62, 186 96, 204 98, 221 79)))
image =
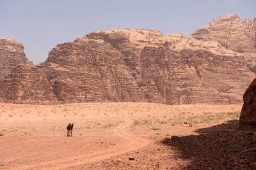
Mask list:
POLYGON ((7 76, 18 64, 32 64, 23 49, 23 45, 14 39, 0 37, 0 79, 7 76))

